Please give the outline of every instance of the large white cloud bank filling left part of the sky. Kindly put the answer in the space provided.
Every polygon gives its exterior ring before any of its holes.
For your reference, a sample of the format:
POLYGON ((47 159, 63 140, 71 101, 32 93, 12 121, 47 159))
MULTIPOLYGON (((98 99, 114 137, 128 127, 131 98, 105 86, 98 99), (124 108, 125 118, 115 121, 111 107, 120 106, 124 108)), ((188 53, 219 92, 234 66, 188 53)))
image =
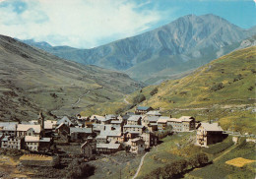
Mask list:
POLYGON ((0 33, 91 48, 149 30, 162 12, 128 0, 0 1, 0 33))

